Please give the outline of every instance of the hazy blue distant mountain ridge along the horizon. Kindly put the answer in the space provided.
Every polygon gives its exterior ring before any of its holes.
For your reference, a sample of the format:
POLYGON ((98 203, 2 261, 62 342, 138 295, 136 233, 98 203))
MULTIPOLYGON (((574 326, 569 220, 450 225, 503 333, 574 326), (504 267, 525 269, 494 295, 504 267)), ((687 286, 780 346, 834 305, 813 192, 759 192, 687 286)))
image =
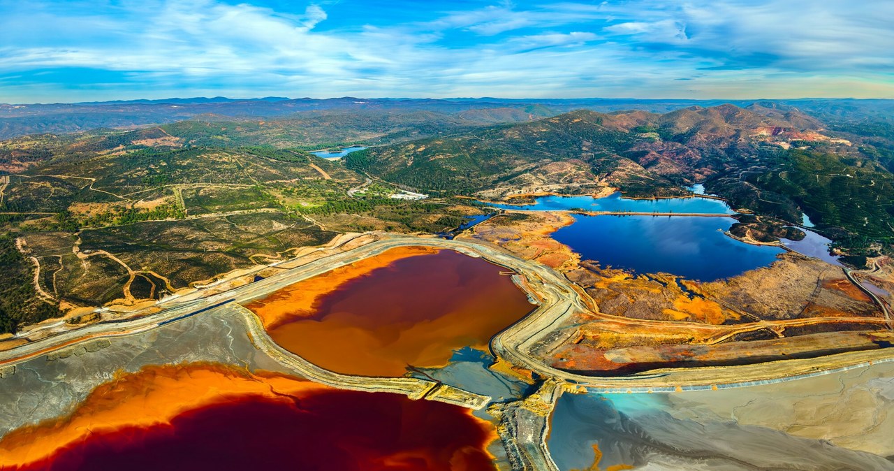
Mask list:
MULTIPOLYGON (((536 107, 535 117, 589 109, 602 113, 643 110, 668 113, 691 106, 766 105, 797 108, 825 121, 864 122, 866 119, 894 123, 894 100, 793 99, 793 100, 659 100, 633 98, 508 99, 508 98, 285 98, 235 99, 227 97, 122 100, 74 104, 0 104, 0 139, 38 133, 69 133, 97 128, 128 128, 190 119, 198 114, 220 114, 232 118, 270 118, 308 111, 433 111, 460 114, 473 110, 510 109, 522 114, 536 107), (772 104, 772 105, 771 105, 772 104), (544 110, 548 110, 544 113, 544 110)), ((505 113, 504 113, 505 114, 505 113)), ((491 122, 500 122, 496 117, 491 122)), ((518 121, 517 118, 508 121, 518 121)))

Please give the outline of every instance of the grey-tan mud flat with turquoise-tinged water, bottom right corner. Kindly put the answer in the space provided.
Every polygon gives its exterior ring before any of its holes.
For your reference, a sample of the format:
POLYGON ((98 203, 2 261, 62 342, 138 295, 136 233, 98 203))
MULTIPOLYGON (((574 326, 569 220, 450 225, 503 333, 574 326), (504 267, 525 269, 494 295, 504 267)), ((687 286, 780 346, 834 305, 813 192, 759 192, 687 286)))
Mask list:
POLYGON ((548 446, 561 470, 894 469, 892 401, 891 364, 723 391, 566 393, 548 446))

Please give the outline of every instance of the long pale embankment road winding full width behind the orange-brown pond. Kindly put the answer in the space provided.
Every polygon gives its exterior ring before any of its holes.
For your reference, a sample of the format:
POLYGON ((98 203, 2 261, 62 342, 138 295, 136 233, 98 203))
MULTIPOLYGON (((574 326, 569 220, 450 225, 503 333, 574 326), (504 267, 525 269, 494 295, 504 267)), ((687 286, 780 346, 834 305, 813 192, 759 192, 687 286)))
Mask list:
MULTIPOLYGON (((64 332, 57 336, 47 337, 40 341, 30 342, 29 344, 20 347, 5 350, 0 352, 0 366, 3 366, 4 369, 9 368, 10 366, 15 366, 16 364, 27 361, 33 357, 46 355, 59 349, 72 348, 80 343, 95 341, 104 337, 117 337, 146 332, 160 325, 177 322, 190 315, 198 314, 201 305, 220 302, 221 299, 232 299, 235 303, 247 302, 249 299, 263 296, 264 293, 273 292, 278 289, 276 288, 277 286, 287 286, 299 282, 300 280, 314 277, 319 273, 329 272, 334 267, 348 265, 360 259, 373 257, 390 248, 412 246, 453 249, 473 257, 484 257, 496 265, 505 266, 506 268, 519 273, 525 280, 524 283, 519 283, 519 286, 525 290, 527 294, 531 295, 532 299, 541 299, 542 302, 528 315, 522 317, 516 323, 510 324, 503 329, 502 332, 494 335, 492 342, 493 352, 497 354, 498 357, 510 360, 510 363, 514 366, 520 366, 535 371, 546 377, 554 377, 566 383, 601 388, 601 391, 628 391, 631 387, 637 387, 637 389, 642 389, 643 391, 660 391, 662 388, 681 387, 685 391, 687 389, 699 390, 711 387, 721 387, 721 385, 726 385, 726 387, 737 387, 754 382, 789 381, 791 379, 796 379, 793 377, 793 374, 802 369, 810 370, 814 373, 817 371, 830 372, 841 367, 862 366, 865 362, 894 361, 894 352, 887 352, 885 351, 886 349, 877 349, 845 352, 809 359, 776 360, 741 366, 663 368, 628 376, 608 377, 570 374, 553 368, 552 366, 547 366, 538 359, 527 356, 519 351, 519 349, 524 349, 527 344, 536 341, 536 338, 540 337, 541 334, 547 333, 545 331, 548 330, 548 327, 557 324, 561 318, 570 314, 572 310, 589 311, 589 309, 586 308, 585 299, 581 296, 581 293, 578 292, 579 289, 571 282, 564 280, 564 277, 559 273, 556 273, 544 265, 521 260, 510 254, 502 253, 502 250, 498 251, 497 249, 481 244, 456 240, 393 237, 371 242, 359 248, 342 252, 341 254, 317 259, 315 262, 299 266, 298 268, 293 268, 286 273, 277 273, 260 282, 224 291, 223 293, 213 295, 208 299, 188 301, 184 303, 183 306, 169 307, 154 315, 126 320, 120 323, 91 324, 83 329, 64 332), (358 254, 357 252, 360 253, 358 254), (337 261, 332 260, 333 258, 336 258, 337 261), (352 258, 354 259, 352 260, 352 258), (308 265, 313 266, 308 267, 308 265), (256 290, 263 290, 263 292, 258 293, 256 290), (128 330, 127 327, 133 328, 128 330), (804 365, 805 363, 816 363, 820 366, 804 365), (795 368, 792 369, 789 366, 795 366, 795 368), (708 372, 713 374, 700 374, 708 372), (716 375, 716 373, 721 372, 729 373, 721 374, 720 376, 716 375), (701 377, 694 377, 699 375, 701 377), (706 377, 711 379, 706 379, 706 377), (659 378, 661 378, 661 380, 655 381, 659 378)), ((226 301, 225 304, 234 306, 233 301, 226 301)), ((260 320, 257 319, 257 316, 251 313, 248 309, 241 307, 238 309, 240 311, 244 310, 248 315, 255 319, 255 322, 251 324, 257 324, 257 327, 260 329, 258 332, 252 332, 253 334, 257 334, 255 338, 266 340, 266 331, 264 331, 263 325, 260 320)), ((605 316, 611 317, 612 319, 615 319, 616 317, 611 315, 605 316)), ((294 354, 284 352, 284 350, 281 353, 283 353, 284 357, 297 357, 294 354)))

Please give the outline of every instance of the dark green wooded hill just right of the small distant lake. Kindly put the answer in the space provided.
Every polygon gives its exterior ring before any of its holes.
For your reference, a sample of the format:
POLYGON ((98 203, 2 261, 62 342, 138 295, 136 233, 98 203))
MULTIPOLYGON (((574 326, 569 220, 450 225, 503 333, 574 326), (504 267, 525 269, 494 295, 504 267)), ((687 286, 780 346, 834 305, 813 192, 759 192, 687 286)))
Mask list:
POLYGON ((589 172, 601 158, 632 142, 627 132, 603 126, 604 120, 611 117, 581 110, 536 122, 369 148, 350 154, 346 164, 416 189, 472 193, 553 162, 574 161, 575 171, 589 172))

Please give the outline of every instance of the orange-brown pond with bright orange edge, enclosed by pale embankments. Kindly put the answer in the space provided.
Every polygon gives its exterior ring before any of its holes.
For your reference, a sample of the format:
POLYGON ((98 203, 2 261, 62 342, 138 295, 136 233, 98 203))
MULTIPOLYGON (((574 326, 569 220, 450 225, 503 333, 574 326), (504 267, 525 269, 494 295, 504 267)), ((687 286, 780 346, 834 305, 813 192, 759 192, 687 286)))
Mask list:
POLYGON ((283 348, 317 366, 401 376, 486 348, 533 306, 506 274, 452 250, 399 248, 250 303, 283 348))

